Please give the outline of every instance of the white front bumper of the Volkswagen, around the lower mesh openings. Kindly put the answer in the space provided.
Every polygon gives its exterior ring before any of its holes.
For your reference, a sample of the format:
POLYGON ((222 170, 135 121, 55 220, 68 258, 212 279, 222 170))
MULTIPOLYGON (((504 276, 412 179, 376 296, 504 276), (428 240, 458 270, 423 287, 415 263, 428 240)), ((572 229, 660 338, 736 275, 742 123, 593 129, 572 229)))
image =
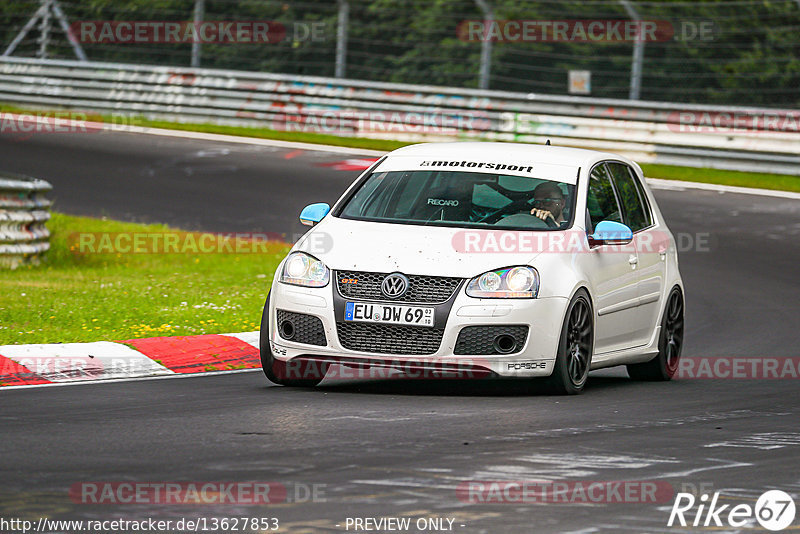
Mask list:
MULTIPOLYGON (((404 355, 349 350, 340 342, 335 317, 336 288, 331 281, 324 288, 304 288, 275 282, 270 293, 270 341, 273 357, 339 362, 353 366, 394 368, 417 376, 434 376, 425 369, 471 373, 485 369, 501 377, 549 376, 553 372, 567 298, 476 299, 468 297, 463 285, 452 297, 438 350, 425 355, 404 355), (324 345, 299 343, 281 337, 277 310, 316 317, 325 333, 324 345), (512 354, 455 354, 461 330, 470 326, 526 325, 522 349, 512 354)), ((358 299, 349 299, 356 300, 358 299)), ((437 310, 440 313, 440 310, 437 310)), ((341 318, 339 318, 341 320, 341 318)), ((306 340, 307 341, 307 340, 306 340)), ((344 376, 344 375, 343 375, 344 376)), ((349 376, 349 375, 348 375, 349 376)))

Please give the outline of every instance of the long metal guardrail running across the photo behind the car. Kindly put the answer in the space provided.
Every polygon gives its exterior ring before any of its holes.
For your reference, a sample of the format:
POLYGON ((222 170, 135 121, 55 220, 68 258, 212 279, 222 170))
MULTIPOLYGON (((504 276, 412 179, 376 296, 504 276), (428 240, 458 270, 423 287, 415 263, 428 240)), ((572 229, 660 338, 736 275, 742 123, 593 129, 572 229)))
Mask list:
POLYGON ((797 110, 11 57, 0 59, 0 101, 409 141, 550 139, 645 163, 800 175, 797 110))

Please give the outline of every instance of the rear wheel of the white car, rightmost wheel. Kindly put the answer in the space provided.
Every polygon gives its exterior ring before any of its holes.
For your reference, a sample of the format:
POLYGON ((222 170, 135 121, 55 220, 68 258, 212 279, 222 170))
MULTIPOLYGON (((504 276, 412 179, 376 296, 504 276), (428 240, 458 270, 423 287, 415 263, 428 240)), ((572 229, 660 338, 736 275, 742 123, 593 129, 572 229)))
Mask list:
POLYGON ((658 354, 649 362, 628 365, 628 376, 634 380, 672 380, 678 371, 683 348, 683 294, 674 287, 667 299, 658 336, 658 354))

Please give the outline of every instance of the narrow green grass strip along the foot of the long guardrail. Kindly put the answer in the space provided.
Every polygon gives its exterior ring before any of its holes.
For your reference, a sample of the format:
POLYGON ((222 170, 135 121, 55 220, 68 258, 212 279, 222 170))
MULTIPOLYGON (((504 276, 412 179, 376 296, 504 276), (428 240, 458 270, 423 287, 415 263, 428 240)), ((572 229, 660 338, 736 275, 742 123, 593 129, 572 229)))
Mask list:
MULTIPOLYGON (((0 104, 0 111, 14 113, 52 113, 31 111, 15 106, 0 104)), ((95 115, 90 120, 101 122, 114 122, 111 116, 95 115)), ((235 135, 240 137, 256 137, 261 139, 276 139, 280 141, 294 141, 311 144, 336 145, 351 148, 364 148, 370 150, 390 151, 413 144, 411 142, 391 141, 384 139, 367 139, 361 137, 339 137, 335 135, 318 134, 312 132, 286 132, 271 130, 269 128, 254 128, 244 126, 221 126, 216 124, 179 123, 169 121, 147 120, 142 117, 132 117, 129 124, 149 128, 165 128, 171 130, 184 130, 192 132, 216 133, 235 135)), ((775 189, 781 191, 800 192, 800 176, 783 174, 764 174, 754 172, 727 171, 720 169, 702 169, 695 167, 677 167, 673 165, 642 164, 645 176, 661 178, 664 180, 684 180, 688 182, 702 182, 709 184, 734 185, 740 187, 755 187, 760 189, 775 189)))

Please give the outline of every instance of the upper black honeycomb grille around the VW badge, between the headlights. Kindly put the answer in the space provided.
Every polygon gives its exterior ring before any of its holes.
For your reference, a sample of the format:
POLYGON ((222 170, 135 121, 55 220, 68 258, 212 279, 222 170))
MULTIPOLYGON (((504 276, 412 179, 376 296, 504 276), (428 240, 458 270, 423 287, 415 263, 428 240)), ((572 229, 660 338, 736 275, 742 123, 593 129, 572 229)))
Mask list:
MULTIPOLYGON (((344 298, 387 300, 381 292, 381 283, 390 273, 368 273, 363 271, 336 271, 336 285, 344 298), (344 283, 343 281, 347 281, 344 283)), ((461 278, 448 276, 408 275, 408 291, 394 302, 441 304, 453 296, 461 278)))

